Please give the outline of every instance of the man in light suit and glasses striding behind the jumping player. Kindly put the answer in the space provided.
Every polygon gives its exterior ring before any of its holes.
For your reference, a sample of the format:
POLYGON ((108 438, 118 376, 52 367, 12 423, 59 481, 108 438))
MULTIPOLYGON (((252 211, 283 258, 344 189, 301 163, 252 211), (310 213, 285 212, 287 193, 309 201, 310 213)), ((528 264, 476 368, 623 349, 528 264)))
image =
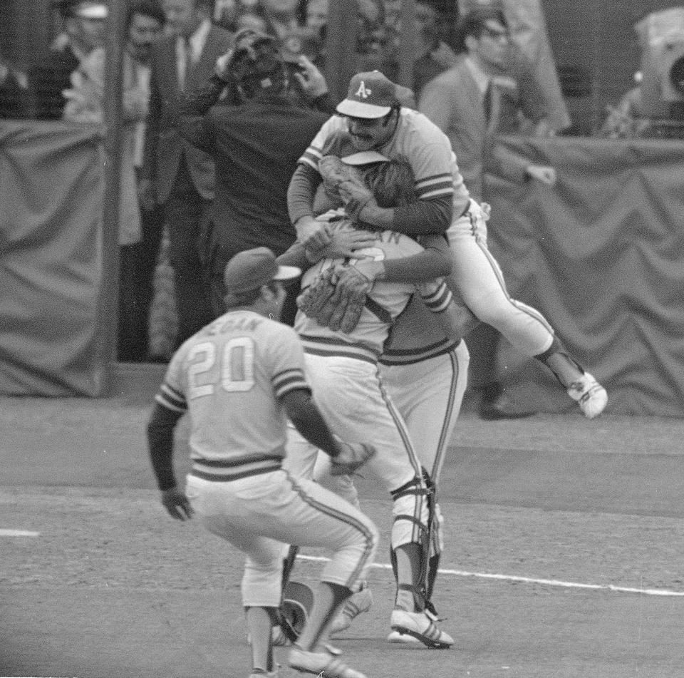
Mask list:
MULTIPOLYGON (((449 136, 471 197, 477 202, 486 200, 484 174, 490 168, 497 168, 512 181, 554 185, 554 168, 530 163, 497 144, 499 133, 520 132, 522 120, 530 120, 539 134, 548 130, 541 90, 534 88, 533 80, 522 81, 516 70, 519 62, 510 60, 504 14, 491 7, 473 9, 460 22, 459 35, 465 56, 425 86, 419 108, 449 136)), ((504 332, 503 317, 489 324, 504 332)), ((492 337, 491 346, 492 354, 485 356, 489 375, 480 415, 492 419, 533 414, 510 402, 496 379, 498 334, 492 337)), ((571 366, 570 359, 567 364, 571 366)), ((564 379, 559 381, 565 384, 568 379, 564 379)))

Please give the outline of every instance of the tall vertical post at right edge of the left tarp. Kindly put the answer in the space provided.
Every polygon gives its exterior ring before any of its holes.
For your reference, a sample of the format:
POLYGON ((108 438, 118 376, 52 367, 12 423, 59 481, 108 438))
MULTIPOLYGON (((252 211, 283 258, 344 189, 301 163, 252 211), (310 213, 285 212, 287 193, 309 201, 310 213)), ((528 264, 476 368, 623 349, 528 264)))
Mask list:
POLYGON ((103 328, 106 363, 103 391, 110 386, 111 364, 116 360, 119 305, 119 193, 121 177, 121 93, 123 47, 126 33, 125 0, 110 0, 105 63, 105 147, 103 198, 103 270, 99 327, 103 328))

